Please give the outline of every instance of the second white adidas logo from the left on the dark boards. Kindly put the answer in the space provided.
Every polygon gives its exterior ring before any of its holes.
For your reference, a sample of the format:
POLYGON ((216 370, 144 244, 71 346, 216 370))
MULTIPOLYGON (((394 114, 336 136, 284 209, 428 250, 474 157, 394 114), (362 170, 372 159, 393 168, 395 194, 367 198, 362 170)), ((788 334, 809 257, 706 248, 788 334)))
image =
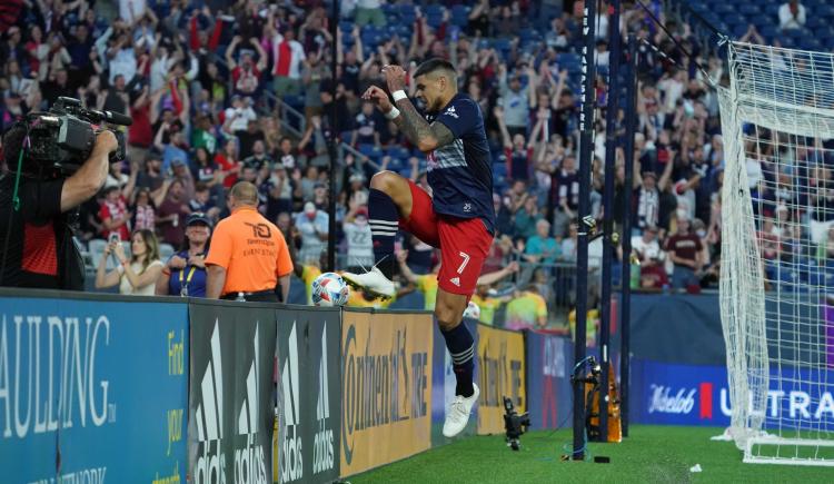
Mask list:
POLYGON ((235 448, 235 482, 267 484, 266 453, 264 446, 256 442, 258 436, 258 381, 260 376, 259 324, 255 325, 255 358, 246 376, 246 398, 238 414, 238 435, 246 436, 246 446, 235 448))

